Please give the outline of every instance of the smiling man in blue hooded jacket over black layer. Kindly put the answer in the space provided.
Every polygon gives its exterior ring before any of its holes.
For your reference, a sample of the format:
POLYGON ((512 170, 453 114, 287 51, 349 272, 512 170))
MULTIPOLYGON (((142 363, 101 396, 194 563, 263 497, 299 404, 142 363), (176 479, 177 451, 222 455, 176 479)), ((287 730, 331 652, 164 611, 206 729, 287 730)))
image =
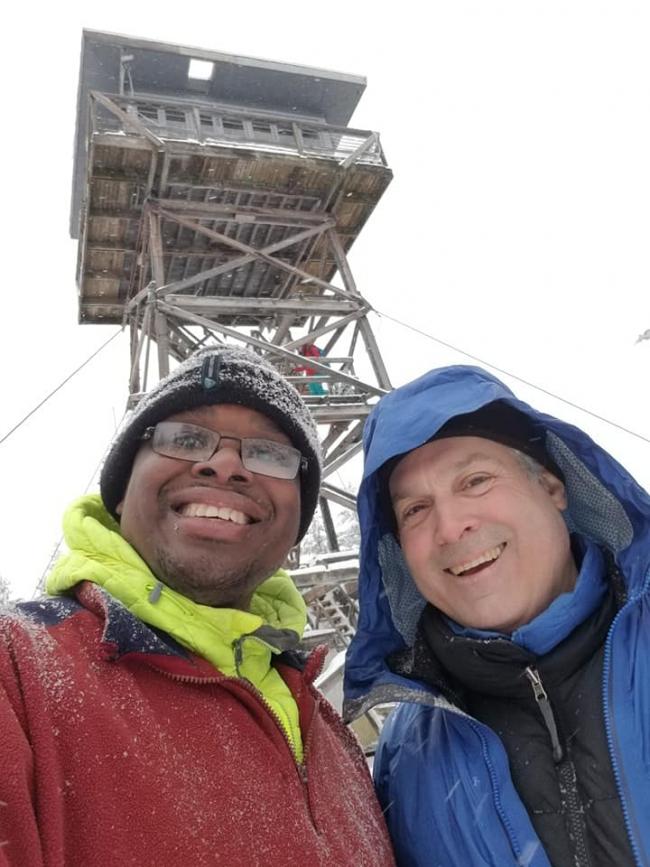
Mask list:
POLYGON ((364 435, 346 713, 397 701, 375 783, 397 862, 650 863, 650 498, 471 367, 364 435))

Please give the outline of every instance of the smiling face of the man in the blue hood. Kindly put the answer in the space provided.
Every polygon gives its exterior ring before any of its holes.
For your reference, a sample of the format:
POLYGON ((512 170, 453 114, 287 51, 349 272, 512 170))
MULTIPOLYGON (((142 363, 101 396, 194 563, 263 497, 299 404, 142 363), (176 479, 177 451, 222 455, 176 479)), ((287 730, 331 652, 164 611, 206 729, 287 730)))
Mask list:
POLYGON ((455 419, 399 461, 389 493, 424 598, 465 626, 513 632, 573 590, 577 570, 560 479, 487 438, 504 415, 497 405, 455 419), (460 434, 480 420, 485 438, 460 434))

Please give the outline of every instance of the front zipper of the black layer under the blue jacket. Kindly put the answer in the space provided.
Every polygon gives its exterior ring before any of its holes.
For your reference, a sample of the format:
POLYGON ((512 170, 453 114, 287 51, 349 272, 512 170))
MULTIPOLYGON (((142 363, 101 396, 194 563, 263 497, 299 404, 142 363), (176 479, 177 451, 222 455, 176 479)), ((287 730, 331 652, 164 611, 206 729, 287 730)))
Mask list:
POLYGON ((544 684, 536 668, 528 666, 524 669, 526 677, 533 688, 533 695, 539 707, 544 725, 551 738, 553 761, 555 762, 560 798, 566 804, 569 844, 573 847, 576 867, 589 867, 589 848, 584 824, 584 810, 578 792, 578 781, 573 762, 565 755, 560 743, 560 736, 553 714, 553 708, 544 684))

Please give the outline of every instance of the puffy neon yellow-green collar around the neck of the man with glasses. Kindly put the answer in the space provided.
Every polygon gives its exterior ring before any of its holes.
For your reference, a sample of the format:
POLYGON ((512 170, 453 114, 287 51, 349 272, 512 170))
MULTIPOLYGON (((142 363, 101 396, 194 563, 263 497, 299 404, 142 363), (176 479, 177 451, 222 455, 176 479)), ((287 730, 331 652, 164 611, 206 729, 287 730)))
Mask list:
MULTIPOLYGON (((171 636, 175 653, 180 645, 224 674, 245 676, 254 682, 268 668, 272 654, 290 649, 302 636, 305 603, 281 570, 258 587, 250 611, 211 608, 157 581, 122 538, 119 525, 99 496, 82 497, 73 503, 65 515, 64 529, 70 552, 57 561, 48 578, 48 592, 65 593, 80 581, 104 588, 109 600, 104 606, 106 637, 116 647, 126 646, 124 638, 129 628, 116 608, 120 603, 137 622, 151 627, 148 631, 158 641, 170 646, 160 636, 171 636), (244 642, 246 654, 242 652, 244 642)), ((136 631, 134 643, 153 641, 140 629, 136 631)))

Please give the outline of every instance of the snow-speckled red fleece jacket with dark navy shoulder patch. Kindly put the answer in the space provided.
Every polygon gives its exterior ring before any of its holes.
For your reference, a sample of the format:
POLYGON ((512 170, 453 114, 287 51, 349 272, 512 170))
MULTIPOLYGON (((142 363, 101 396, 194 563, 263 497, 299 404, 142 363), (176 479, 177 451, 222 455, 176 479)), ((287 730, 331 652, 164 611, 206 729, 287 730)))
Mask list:
POLYGON ((278 663, 297 765, 247 681, 97 587, 21 608, 0 618, 2 867, 394 863, 364 757, 312 686, 322 652, 278 663))

